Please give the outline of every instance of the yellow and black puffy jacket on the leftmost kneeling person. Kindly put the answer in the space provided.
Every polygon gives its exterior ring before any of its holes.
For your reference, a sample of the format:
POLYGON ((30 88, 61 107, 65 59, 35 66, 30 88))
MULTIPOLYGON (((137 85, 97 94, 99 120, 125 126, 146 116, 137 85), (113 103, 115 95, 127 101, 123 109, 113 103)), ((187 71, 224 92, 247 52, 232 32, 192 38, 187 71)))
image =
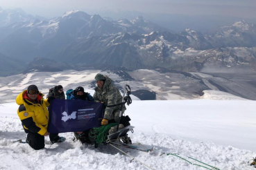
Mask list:
POLYGON ((19 104, 17 113, 26 133, 31 131, 44 135, 47 131, 49 121, 47 106, 50 104, 47 99, 44 100, 43 96, 39 93, 37 101, 33 101, 28 98, 27 91, 23 91, 16 97, 16 103, 19 104))

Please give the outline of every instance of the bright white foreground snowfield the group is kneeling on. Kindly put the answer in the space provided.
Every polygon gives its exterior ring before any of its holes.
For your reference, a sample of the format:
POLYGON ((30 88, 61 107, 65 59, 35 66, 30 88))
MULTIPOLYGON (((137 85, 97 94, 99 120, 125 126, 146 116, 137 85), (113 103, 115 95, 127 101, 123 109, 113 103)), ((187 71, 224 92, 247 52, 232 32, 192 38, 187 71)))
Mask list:
POLYGON ((255 169, 247 164, 256 156, 255 106, 250 100, 133 101, 126 111, 135 126, 130 138, 154 148, 149 153, 119 149, 148 168, 110 145, 83 147, 72 141, 73 133, 61 133, 67 140, 60 144, 45 138, 45 149, 40 151, 13 142, 26 138, 18 105, 0 104, 0 169, 205 169, 167 153, 222 170, 255 169))

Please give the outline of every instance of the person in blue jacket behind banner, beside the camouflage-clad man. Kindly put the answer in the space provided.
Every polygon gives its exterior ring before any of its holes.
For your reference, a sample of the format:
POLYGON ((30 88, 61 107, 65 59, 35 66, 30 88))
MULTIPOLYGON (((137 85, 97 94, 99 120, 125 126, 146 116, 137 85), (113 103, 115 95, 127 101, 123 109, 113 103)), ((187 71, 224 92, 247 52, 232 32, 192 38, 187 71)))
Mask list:
MULTIPOLYGON (((89 95, 89 93, 85 93, 85 89, 81 86, 78 86, 74 91, 70 89, 69 91, 66 92, 66 95, 67 95, 67 99, 70 99, 70 100, 85 100, 85 101, 94 102, 92 95, 89 95)), ((91 143, 88 137, 89 130, 74 132, 74 135, 77 140, 80 140, 80 142, 82 142, 82 144, 91 143)))

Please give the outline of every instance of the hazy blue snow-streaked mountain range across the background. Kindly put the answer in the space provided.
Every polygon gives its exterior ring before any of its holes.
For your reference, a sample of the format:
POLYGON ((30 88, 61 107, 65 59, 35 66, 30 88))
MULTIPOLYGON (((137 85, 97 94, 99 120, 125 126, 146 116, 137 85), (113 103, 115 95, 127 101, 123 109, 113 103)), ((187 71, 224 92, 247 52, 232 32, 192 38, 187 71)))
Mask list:
POLYGON ((213 73, 256 68, 256 26, 244 20, 207 33, 173 33, 142 16, 110 21, 71 10, 47 20, 15 9, 1 10, 0 32, 0 53, 24 62, 13 65, 16 72, 101 65, 213 73))

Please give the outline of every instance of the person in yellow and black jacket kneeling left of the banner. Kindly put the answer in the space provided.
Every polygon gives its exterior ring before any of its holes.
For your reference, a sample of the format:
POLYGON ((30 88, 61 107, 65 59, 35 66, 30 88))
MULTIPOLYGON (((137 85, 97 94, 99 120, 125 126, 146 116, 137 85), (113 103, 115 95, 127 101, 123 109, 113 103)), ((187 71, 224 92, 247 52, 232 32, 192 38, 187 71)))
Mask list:
POLYGON ((28 133, 26 142, 35 150, 44 149, 44 136, 49 135, 51 142, 63 142, 64 137, 58 134, 50 134, 47 131, 51 97, 44 100, 43 94, 38 91, 37 86, 30 85, 28 89, 19 93, 16 103, 19 105, 17 113, 22 121, 24 131, 28 133))

